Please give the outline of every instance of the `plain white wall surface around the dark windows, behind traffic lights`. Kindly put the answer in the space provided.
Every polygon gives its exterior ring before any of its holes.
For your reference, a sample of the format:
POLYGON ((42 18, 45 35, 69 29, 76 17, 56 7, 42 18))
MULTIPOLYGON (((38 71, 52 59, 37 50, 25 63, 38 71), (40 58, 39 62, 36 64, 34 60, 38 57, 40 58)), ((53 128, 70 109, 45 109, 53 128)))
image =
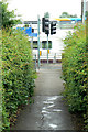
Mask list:
MULTIPOLYGON (((65 46, 64 43, 63 43, 63 40, 67 35, 68 31, 73 32, 74 30, 57 29, 56 34, 48 35, 48 41, 52 41, 52 48, 50 50, 48 59, 53 59, 55 55, 56 55, 56 59, 62 59, 62 53, 63 53, 63 50, 64 50, 64 46, 65 46)), ((33 40, 37 40, 37 38, 33 38, 33 40)), ((41 31, 40 43, 42 41, 47 41, 47 35, 41 31)), ((42 55, 41 55, 40 58, 41 59, 47 59, 47 50, 40 48, 40 51, 42 51, 42 55)), ((37 55, 38 55, 37 50, 33 50, 33 56, 35 56, 35 54, 36 54, 36 57, 37 57, 37 55)))

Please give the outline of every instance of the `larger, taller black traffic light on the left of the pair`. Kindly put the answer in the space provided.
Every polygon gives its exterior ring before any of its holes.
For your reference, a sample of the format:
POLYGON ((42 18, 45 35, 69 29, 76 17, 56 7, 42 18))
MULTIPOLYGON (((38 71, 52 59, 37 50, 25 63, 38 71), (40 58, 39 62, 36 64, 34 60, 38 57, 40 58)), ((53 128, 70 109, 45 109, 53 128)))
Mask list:
POLYGON ((46 18, 42 18, 42 31, 47 35, 50 34, 50 20, 46 18))

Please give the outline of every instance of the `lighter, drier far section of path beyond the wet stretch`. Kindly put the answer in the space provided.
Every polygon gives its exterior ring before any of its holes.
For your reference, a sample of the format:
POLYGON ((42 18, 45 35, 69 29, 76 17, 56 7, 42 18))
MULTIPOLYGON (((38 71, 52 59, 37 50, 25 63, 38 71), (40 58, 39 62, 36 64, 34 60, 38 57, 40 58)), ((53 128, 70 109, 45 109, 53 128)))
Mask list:
POLYGON ((35 80, 36 96, 58 96, 63 92, 62 64, 45 64, 38 72, 38 78, 35 80))

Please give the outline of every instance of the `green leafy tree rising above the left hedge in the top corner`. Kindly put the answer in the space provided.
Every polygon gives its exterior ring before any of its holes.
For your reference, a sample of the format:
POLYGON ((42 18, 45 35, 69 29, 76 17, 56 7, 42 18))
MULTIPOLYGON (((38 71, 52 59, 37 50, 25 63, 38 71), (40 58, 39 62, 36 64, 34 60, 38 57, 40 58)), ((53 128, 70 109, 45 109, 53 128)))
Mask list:
POLYGON ((8 3, 0 1, 0 24, 3 28, 13 26, 18 23, 21 23, 20 20, 16 20, 16 15, 14 14, 14 10, 8 10, 8 3))

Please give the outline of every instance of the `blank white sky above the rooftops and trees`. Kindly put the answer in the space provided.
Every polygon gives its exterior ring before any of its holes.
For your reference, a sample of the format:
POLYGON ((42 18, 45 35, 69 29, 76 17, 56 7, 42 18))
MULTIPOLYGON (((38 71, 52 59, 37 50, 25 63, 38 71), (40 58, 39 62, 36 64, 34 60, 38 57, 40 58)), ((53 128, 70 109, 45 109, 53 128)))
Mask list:
POLYGON ((8 0, 9 10, 14 10, 15 14, 22 14, 22 20, 37 20, 50 12, 51 18, 59 18, 62 12, 81 15, 81 0, 8 0))

